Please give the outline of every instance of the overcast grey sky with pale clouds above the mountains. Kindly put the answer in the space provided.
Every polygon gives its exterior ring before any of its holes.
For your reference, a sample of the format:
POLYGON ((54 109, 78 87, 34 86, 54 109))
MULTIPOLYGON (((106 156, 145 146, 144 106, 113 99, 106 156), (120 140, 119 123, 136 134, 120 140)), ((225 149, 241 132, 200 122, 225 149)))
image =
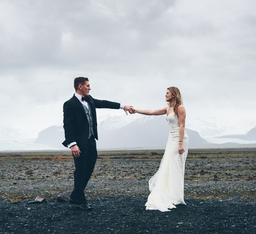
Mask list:
POLYGON ((0 139, 61 125, 77 76, 94 98, 139 109, 164 107, 177 86, 187 127, 246 133, 256 125, 255 9, 254 0, 0 0, 0 139))

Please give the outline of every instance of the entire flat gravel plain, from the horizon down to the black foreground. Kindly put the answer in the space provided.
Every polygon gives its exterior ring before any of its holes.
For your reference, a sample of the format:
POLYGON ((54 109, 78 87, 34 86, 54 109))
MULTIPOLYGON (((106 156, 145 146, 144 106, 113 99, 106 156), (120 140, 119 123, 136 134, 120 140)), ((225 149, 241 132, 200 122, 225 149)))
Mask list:
POLYGON ((170 212, 146 211, 148 180, 162 155, 99 152, 85 191, 94 209, 83 212, 56 201, 73 188, 70 152, 0 153, 0 234, 256 233, 256 149, 190 150, 187 205, 170 212), (26 203, 36 196, 47 202, 26 203))

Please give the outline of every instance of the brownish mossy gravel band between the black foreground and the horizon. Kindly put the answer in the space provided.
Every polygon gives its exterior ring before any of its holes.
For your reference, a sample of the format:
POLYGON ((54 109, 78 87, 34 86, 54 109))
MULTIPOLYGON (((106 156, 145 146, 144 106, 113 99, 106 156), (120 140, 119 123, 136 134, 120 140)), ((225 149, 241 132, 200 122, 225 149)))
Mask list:
MULTIPOLYGON (((187 159, 185 197, 255 201, 255 159, 187 159)), ((160 159, 98 159, 86 196, 148 196, 148 180, 159 164, 160 159)), ((56 198, 69 195, 73 188, 72 160, 9 159, 2 165, 0 201, 22 201, 39 195, 56 198)))

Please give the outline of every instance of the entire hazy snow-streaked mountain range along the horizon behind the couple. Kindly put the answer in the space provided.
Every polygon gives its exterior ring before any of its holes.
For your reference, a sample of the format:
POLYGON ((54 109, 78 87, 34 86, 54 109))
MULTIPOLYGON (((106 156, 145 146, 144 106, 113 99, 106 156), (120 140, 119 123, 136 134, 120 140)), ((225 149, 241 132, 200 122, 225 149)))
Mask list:
MULTIPOLYGON (((200 120, 199 120, 200 122, 200 120)), ((192 131, 192 124, 187 124, 192 147, 255 147, 256 127, 245 135, 224 135, 219 138, 201 137, 197 131, 192 131), (229 142, 229 143, 225 143, 229 142), (255 146, 254 146, 255 145, 255 146)), ((195 126, 195 123, 193 123, 195 126)), ((203 128, 203 126, 201 126, 203 128)), ((192 128, 193 129, 193 128, 192 128)), ((200 129, 200 128, 199 128, 200 129)), ((214 129, 209 125, 207 131, 214 129)), ((100 148, 132 148, 132 147, 161 147, 164 148, 169 134, 168 122, 164 116, 145 115, 105 115, 98 118, 97 147, 100 148)), ((36 140, 0 141, 0 150, 43 150, 66 149, 63 125, 51 126, 42 130, 36 140)))

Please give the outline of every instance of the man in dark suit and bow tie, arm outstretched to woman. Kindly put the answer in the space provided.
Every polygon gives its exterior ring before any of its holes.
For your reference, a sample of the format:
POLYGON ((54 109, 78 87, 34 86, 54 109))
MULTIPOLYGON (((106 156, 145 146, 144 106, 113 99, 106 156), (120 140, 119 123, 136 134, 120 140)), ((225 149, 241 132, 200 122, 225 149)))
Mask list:
POLYGON ((76 93, 63 105, 65 147, 71 148, 74 158, 74 189, 70 195, 70 203, 76 204, 82 210, 91 210, 87 203, 84 189, 90 179, 97 160, 96 141, 97 117, 96 108, 124 109, 125 113, 131 111, 131 106, 117 102, 94 99, 89 80, 85 77, 74 79, 76 93))

